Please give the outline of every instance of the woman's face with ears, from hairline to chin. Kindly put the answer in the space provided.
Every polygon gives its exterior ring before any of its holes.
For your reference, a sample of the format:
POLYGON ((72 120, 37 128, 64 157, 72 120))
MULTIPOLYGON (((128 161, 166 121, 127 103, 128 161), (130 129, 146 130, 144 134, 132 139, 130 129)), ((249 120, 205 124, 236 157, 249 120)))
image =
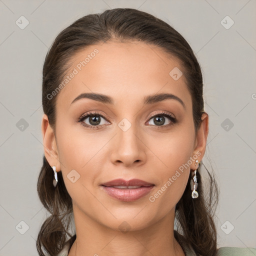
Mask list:
POLYGON ((134 230, 173 214, 207 136, 207 118, 195 133, 184 75, 169 74, 183 71, 178 59, 141 42, 107 42, 71 62, 57 95, 56 136, 45 115, 42 130, 45 156, 61 170, 74 212, 113 229, 126 221, 134 230), (109 100, 76 99, 82 93, 109 100), (148 98, 162 93, 172 96, 148 98), (117 178, 151 185, 102 185, 117 178))

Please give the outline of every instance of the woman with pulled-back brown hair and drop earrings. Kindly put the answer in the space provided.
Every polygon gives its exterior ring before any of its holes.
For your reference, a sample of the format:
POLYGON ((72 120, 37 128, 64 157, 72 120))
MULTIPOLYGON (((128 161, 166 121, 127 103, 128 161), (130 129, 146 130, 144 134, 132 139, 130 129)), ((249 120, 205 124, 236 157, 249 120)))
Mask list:
POLYGON ((208 135, 202 89, 191 47, 148 13, 106 10, 58 34, 43 66, 37 189, 50 216, 39 255, 255 251, 217 249, 217 186, 208 173, 204 192, 200 178, 208 135))

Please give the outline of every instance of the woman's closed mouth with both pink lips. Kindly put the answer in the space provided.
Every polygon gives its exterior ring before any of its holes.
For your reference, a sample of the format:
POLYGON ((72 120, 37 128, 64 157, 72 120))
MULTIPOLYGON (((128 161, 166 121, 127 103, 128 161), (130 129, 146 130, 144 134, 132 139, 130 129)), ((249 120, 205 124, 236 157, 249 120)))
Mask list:
POLYGON ((141 179, 114 179, 101 184, 107 195, 121 200, 134 201, 150 192, 154 184, 141 179))

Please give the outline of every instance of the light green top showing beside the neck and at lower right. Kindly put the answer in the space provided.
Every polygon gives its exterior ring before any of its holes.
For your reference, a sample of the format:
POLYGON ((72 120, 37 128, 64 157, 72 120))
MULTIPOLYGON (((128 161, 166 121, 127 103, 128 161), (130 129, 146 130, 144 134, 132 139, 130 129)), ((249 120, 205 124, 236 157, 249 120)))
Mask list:
MULTIPOLYGON (((176 230, 174 230, 174 237, 183 249, 185 256, 197 256, 194 250, 186 244, 183 236, 176 230)), ((71 247, 71 244, 67 241, 57 256, 67 256, 69 247, 71 247)), ((256 256, 256 248, 220 247, 216 256, 256 256)))

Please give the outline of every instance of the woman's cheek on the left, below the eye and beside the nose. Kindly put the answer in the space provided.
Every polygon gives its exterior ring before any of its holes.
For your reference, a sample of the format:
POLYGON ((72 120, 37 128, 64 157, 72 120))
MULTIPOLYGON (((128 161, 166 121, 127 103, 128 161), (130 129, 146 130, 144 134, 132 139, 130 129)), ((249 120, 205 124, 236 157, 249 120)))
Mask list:
MULTIPOLYGON (((109 137, 77 129, 72 125, 58 124, 57 146, 61 172, 69 195, 73 200, 89 195, 91 186, 102 170, 103 145, 109 137), (61 127, 61 128, 60 128, 61 127), (102 148, 100 150, 100 148, 102 148)), ((103 161, 104 162, 104 161, 103 161)))

